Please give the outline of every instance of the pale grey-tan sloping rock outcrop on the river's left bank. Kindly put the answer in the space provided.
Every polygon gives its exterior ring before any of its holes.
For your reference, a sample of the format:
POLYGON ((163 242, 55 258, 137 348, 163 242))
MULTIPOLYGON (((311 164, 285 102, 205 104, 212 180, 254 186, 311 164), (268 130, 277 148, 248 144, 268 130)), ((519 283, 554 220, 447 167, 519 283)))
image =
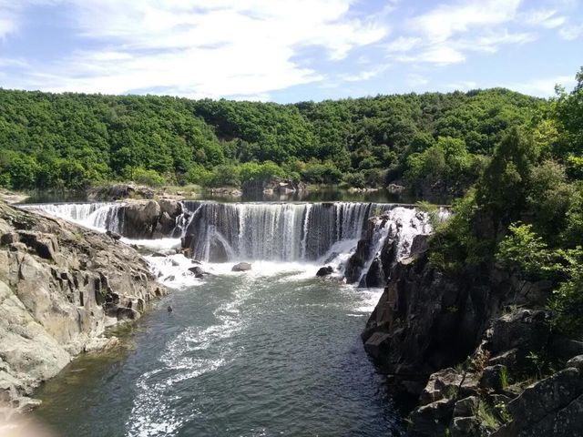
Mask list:
POLYGON ((26 411, 40 381, 164 292, 135 249, 0 203, 0 403, 26 411))

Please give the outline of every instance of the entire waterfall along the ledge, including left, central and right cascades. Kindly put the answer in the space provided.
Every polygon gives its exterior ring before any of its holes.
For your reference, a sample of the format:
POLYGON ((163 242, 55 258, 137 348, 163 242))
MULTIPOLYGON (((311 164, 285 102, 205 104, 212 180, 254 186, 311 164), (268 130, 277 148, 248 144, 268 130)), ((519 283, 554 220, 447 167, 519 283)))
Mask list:
MULTIPOLYGON (((26 205, 99 231, 124 234, 117 203, 26 205)), ((382 203, 218 203, 184 201, 168 237, 200 261, 270 260, 332 265, 351 283, 383 283, 392 263, 409 256, 415 236, 433 229, 414 206, 382 203), (381 271, 384 269, 384 271, 381 271), (369 275, 370 273, 370 275, 369 275)), ((437 219, 449 215, 442 208, 437 219)), ((126 227, 127 228, 127 227, 126 227)), ((377 285, 373 285, 377 286, 377 285)))

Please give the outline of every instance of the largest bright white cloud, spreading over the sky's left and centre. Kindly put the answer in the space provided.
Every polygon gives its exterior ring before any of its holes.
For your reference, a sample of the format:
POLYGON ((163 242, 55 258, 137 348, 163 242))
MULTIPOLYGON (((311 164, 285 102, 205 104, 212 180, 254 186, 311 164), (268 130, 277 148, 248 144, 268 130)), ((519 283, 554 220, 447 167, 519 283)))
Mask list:
POLYGON ((339 60, 388 33, 374 17, 354 18, 351 0, 62 3, 78 35, 104 48, 31 68, 10 86, 261 99, 276 89, 322 80, 299 63, 303 49, 339 60))

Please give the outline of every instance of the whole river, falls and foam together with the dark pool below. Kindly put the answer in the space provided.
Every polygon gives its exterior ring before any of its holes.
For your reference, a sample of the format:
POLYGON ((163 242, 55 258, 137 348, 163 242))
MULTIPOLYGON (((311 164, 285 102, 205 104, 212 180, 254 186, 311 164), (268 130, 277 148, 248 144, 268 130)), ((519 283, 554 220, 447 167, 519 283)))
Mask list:
MULTIPOLYGON (((405 252, 427 231, 424 219, 412 208, 345 202, 187 206, 183 232, 214 229, 201 239, 207 246, 224 234, 229 260, 194 250, 210 273, 196 279, 182 254, 148 256, 173 292, 114 332, 118 349, 81 356, 47 381, 35 393, 36 418, 64 437, 398 435, 399 416, 360 340, 382 290, 315 273, 324 258, 342 265, 373 213, 386 211, 394 230, 379 235, 395 232, 405 252), (272 238, 281 231, 289 245, 272 238), (259 248, 250 243, 258 239, 259 248), (240 259, 251 271, 230 271, 240 259)), ((117 205, 31 208, 94 229, 121 226, 117 205)), ((176 236, 124 241, 179 244, 176 236)))

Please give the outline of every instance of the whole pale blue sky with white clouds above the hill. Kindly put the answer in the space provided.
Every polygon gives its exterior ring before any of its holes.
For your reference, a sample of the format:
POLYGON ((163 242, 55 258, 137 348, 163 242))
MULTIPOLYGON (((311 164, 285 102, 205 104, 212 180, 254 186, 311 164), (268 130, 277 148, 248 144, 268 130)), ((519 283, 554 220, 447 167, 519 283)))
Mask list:
POLYGON ((0 0, 0 87, 280 103, 504 86, 583 66, 583 0, 0 0))

